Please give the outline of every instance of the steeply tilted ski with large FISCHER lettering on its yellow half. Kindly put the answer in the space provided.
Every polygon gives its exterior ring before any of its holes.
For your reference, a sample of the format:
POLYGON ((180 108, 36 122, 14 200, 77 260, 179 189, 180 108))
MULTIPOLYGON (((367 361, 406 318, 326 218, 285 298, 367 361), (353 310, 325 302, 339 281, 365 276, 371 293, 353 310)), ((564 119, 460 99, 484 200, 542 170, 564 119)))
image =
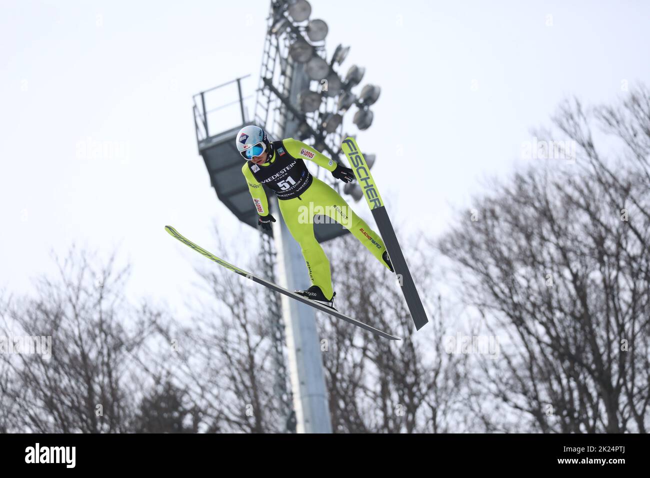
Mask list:
POLYGON ((406 265, 406 259, 404 259, 402 248, 397 241, 393 224, 388 217, 386 207, 383 205, 382 196, 380 196, 379 189, 370 174, 370 168, 354 138, 347 137, 344 139, 341 144, 341 150, 348 157, 350 167, 354 171, 354 176, 356 176, 359 186, 363 190, 363 195, 370 207, 372 217, 374 217, 377 223, 379 233, 382 235, 383 242, 388 250, 388 256, 391 259, 391 263, 393 263, 393 269, 395 269, 398 282, 402 287, 402 293, 404 294, 404 299, 406 299, 406 305, 411 312, 415 328, 420 330, 426 325, 429 319, 426 317, 422 300, 417 293, 408 265, 406 265))

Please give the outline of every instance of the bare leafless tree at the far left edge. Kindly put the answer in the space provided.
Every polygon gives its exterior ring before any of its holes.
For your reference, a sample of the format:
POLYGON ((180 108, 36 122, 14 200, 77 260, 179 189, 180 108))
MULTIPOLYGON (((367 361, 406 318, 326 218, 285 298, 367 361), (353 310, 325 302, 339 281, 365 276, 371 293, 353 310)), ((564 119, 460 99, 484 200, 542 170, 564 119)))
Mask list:
POLYGON ((58 278, 42 278, 36 297, 7 300, 0 311, 10 346, 19 337, 51 343, 51 354, 0 355, 4 431, 129 431, 148 384, 134 359, 157 314, 125 304, 128 268, 116 270, 114 257, 100 268, 92 261, 72 248, 57 259, 58 278))

